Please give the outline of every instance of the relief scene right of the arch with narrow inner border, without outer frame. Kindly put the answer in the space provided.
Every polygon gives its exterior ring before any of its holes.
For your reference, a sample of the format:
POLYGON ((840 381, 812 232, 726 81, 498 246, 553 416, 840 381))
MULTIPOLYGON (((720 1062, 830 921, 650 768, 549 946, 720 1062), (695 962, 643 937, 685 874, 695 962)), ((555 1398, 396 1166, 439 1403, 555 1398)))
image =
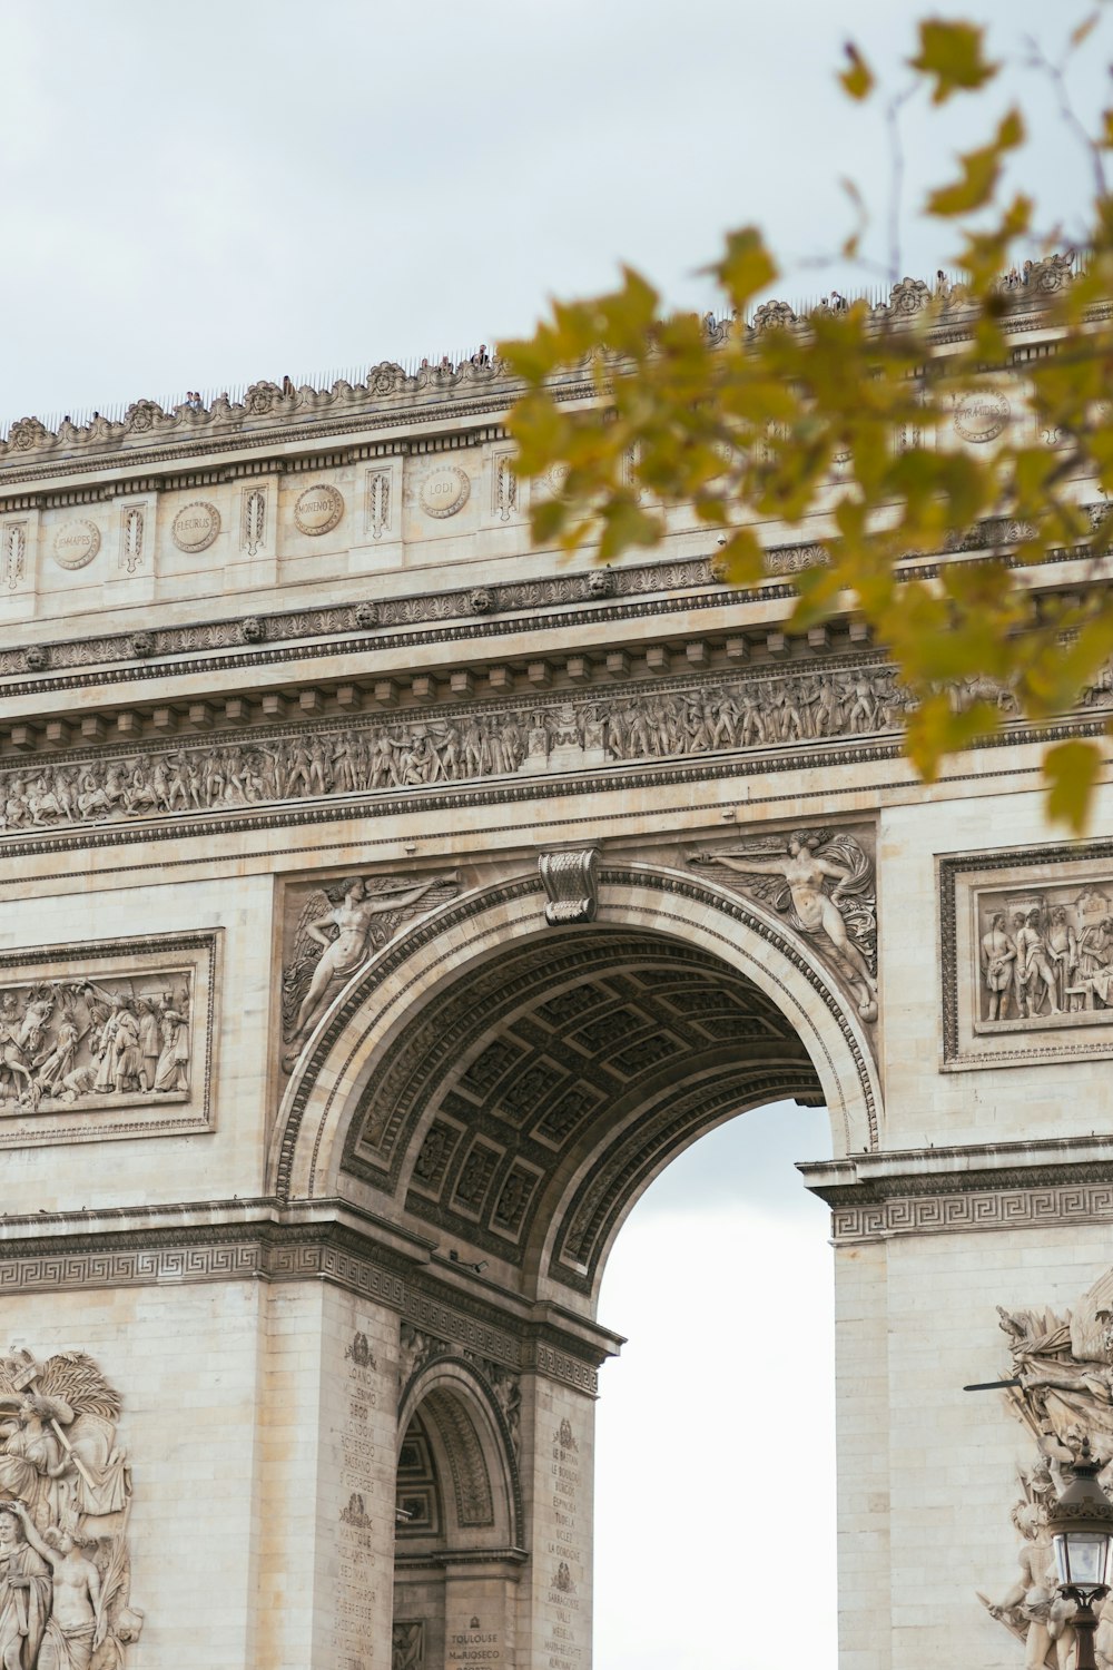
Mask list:
POLYGON ((1113 877, 975 893, 978 1032, 1113 1024, 1113 877))

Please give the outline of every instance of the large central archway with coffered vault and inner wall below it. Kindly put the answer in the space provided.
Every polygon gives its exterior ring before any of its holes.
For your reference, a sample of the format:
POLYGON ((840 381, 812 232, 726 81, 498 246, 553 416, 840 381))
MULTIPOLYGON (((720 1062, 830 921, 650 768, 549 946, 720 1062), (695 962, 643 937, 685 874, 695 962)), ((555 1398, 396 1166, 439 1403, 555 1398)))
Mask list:
POLYGON ((544 900, 511 877, 387 945, 319 1022, 272 1151, 292 1211, 374 1217, 457 1294, 404 1283, 394 1346, 399 1488, 429 1508, 397 1535, 394 1620, 426 1670, 511 1642, 589 1663, 591 1364, 617 1343, 594 1308, 652 1177, 771 1101, 826 1102, 836 1154, 878 1144, 866 1027, 771 910, 649 865, 604 868, 592 920, 544 900))

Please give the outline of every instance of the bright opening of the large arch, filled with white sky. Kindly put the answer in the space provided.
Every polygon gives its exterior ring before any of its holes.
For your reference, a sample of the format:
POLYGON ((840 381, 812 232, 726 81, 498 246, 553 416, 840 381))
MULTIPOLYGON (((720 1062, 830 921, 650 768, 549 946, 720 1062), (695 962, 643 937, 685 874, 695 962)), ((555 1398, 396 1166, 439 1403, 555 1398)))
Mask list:
POLYGON ((828 1151, 823 1109, 753 1109, 677 1156, 611 1249, 599 1316, 627 1338, 596 1404, 606 1670, 778 1663, 803 1523, 808 1657, 836 1663, 834 1269, 794 1169, 828 1151), (661 1526, 677 1535, 646 1607, 661 1526))

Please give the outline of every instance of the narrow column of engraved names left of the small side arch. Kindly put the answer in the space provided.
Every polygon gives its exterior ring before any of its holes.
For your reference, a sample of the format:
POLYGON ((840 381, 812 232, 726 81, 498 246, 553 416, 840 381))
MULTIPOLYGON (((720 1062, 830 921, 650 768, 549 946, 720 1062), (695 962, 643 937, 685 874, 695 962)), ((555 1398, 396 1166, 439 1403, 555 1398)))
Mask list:
POLYGON ((375 1627, 374 1588, 375 1543, 369 1503, 374 1501, 372 1411, 379 1404, 374 1386, 374 1358, 365 1334, 354 1334, 345 1351, 344 1413, 340 1420, 340 1525, 337 1528, 337 1566, 332 1580, 332 1655, 334 1663, 372 1660, 375 1627))

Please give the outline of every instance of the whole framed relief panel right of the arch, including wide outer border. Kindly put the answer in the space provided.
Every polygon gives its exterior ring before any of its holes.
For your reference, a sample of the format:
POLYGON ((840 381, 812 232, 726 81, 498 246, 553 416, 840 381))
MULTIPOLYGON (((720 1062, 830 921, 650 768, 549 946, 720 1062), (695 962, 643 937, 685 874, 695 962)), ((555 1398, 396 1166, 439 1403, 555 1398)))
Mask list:
POLYGON ((941 907, 946 1067, 1113 1054, 1108 845, 943 860, 941 907))

